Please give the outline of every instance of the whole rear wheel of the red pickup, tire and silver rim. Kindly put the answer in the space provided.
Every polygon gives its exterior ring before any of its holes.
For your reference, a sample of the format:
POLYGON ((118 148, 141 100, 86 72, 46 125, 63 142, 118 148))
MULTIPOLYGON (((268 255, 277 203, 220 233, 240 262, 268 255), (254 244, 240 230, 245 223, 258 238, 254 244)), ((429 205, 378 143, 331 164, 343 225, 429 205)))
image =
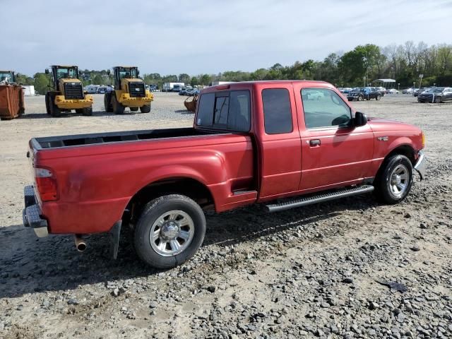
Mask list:
POLYGON ((172 268, 194 256, 206 234, 206 218, 191 198, 179 194, 150 201, 138 220, 136 253, 155 268, 172 268))

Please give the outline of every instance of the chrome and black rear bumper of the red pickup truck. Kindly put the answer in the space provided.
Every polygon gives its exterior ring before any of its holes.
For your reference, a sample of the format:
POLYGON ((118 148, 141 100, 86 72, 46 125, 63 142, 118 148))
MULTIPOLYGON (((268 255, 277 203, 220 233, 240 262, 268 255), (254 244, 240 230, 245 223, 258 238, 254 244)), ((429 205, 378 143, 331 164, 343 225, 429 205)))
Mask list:
POLYGON ((37 204, 33 186, 25 186, 23 197, 25 201, 25 208, 22 211, 23 225, 32 227, 37 237, 47 237, 49 235, 47 220, 41 218, 41 210, 37 204))

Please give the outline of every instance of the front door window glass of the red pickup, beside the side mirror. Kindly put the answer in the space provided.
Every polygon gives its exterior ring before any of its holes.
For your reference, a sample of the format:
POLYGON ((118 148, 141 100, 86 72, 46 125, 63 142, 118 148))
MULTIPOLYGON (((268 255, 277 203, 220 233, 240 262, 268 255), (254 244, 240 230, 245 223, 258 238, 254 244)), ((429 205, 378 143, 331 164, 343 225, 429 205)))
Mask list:
POLYGON ((333 90, 328 88, 303 88, 301 95, 304 123, 307 129, 349 126, 352 119, 350 107, 333 90))

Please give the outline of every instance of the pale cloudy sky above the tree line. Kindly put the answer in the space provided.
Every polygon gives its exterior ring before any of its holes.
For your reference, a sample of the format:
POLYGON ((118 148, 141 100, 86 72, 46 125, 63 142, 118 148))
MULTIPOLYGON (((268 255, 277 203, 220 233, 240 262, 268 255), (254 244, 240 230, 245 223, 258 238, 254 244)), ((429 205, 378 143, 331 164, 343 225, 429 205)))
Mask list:
POLYGON ((452 43, 451 0, 71 2, 0 0, 0 69, 126 64, 196 75, 321 60, 357 44, 452 43))

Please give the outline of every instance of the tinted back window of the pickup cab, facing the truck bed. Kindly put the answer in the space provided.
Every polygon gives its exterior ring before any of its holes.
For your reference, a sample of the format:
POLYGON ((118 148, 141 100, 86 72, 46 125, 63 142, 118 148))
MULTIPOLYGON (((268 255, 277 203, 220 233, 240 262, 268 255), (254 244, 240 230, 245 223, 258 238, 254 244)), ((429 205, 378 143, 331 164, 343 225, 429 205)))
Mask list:
POLYGON ((247 132, 251 128, 248 90, 206 93, 198 105, 197 126, 247 132))

